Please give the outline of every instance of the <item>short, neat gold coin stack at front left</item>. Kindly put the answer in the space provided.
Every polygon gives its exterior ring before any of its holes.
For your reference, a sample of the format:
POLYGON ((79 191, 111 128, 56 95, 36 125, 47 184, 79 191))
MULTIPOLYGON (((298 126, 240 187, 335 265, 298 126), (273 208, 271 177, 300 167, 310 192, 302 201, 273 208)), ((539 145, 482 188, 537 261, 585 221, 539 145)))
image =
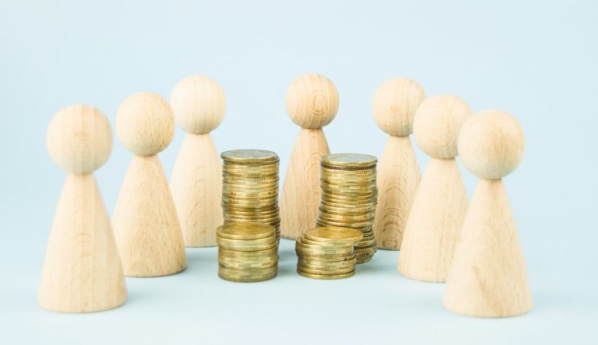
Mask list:
POLYGON ((261 282, 278 273, 276 229, 264 223, 231 223, 216 230, 218 276, 233 282, 261 282))

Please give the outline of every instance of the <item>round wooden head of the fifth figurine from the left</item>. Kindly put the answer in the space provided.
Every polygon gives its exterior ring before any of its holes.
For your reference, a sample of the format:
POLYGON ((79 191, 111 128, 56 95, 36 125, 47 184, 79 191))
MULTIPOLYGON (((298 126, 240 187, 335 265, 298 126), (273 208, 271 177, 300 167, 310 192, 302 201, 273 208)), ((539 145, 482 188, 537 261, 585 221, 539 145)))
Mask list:
POLYGON ((390 136, 409 136, 413 131, 413 117, 426 93, 412 79, 393 78, 384 82, 371 105, 374 121, 390 136))

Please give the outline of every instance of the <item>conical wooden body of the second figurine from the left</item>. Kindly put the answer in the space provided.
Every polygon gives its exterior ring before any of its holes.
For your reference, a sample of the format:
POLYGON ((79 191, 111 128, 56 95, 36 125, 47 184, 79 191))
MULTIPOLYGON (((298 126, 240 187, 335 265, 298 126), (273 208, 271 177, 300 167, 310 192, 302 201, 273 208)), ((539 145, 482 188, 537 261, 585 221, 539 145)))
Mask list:
POLYGON ((128 277, 170 275, 186 267, 181 226, 157 155, 133 156, 113 228, 128 277))

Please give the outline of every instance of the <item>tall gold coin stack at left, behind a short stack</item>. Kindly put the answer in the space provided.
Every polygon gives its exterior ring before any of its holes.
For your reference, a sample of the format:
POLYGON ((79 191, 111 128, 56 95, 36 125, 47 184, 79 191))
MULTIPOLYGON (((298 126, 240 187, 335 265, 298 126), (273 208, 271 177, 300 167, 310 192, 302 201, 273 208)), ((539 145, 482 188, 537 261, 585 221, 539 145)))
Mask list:
POLYGON ((222 152, 224 223, 267 223, 280 238, 279 157, 265 150, 222 152))

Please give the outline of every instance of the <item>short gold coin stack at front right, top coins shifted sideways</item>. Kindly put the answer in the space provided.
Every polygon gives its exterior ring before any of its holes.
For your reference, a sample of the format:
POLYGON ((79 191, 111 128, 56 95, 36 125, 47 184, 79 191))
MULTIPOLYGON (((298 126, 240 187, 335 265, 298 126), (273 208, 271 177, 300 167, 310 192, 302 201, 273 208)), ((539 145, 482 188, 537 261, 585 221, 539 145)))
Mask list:
POLYGON ((311 228, 297 238, 297 272, 307 278, 341 279, 355 274, 353 246, 362 232, 326 226, 311 228))

